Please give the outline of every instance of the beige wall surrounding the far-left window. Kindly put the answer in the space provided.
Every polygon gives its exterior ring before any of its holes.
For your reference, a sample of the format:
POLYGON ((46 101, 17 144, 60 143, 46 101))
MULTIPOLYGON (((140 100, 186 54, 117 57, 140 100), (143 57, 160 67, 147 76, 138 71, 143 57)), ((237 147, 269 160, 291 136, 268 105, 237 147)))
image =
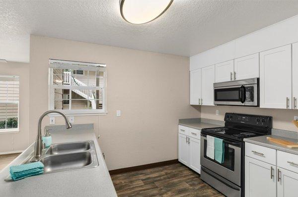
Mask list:
POLYGON ((26 63, 0 63, 0 75, 18 75, 19 132, 0 133, 0 152, 24 150, 29 146, 29 65, 26 63))

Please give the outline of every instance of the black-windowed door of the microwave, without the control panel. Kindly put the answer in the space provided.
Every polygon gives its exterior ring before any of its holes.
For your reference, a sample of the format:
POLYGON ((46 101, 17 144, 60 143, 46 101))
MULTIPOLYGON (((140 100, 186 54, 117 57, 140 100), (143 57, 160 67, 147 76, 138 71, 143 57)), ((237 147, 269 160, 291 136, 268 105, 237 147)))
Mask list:
POLYGON ((244 86, 226 86, 214 88, 214 104, 244 105, 244 102, 244 86))

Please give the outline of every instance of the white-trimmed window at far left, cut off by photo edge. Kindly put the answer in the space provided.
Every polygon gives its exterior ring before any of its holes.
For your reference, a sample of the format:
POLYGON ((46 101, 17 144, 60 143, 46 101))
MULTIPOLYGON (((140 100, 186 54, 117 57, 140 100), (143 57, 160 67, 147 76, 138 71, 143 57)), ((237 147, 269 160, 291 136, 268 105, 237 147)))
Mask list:
POLYGON ((0 132, 18 131, 19 77, 0 75, 0 132))

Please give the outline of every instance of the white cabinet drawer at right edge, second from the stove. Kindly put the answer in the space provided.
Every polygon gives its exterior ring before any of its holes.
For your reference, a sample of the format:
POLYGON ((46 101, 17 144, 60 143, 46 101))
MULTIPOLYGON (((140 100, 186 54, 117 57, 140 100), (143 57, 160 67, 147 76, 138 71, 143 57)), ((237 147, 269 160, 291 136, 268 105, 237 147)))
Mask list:
POLYGON ((298 173, 298 155, 278 150, 277 166, 298 173))

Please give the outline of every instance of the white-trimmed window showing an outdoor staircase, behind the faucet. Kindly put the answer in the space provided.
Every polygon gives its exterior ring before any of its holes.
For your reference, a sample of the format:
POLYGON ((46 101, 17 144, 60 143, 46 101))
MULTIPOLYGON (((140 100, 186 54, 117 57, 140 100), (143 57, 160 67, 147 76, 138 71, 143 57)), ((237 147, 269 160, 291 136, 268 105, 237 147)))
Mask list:
POLYGON ((106 113, 106 65, 50 59, 50 109, 106 113))

